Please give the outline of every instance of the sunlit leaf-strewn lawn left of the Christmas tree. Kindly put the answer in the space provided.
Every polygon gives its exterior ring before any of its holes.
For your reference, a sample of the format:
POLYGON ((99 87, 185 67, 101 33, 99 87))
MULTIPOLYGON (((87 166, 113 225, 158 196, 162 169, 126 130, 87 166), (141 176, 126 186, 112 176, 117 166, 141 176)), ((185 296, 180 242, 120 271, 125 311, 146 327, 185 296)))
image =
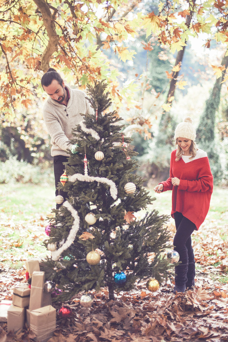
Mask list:
POLYGON ((17 269, 25 260, 45 256, 47 216, 55 208, 55 187, 0 184, 0 261, 17 269))

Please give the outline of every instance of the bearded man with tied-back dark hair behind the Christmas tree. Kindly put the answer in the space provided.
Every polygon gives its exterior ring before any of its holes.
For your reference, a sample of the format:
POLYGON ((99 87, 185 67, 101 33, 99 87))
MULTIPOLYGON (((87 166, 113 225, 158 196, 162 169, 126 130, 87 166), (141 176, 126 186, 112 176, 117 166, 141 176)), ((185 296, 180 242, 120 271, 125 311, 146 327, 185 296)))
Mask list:
MULTIPOLYGON (((51 136, 51 155, 54 157, 55 188, 64 173, 72 147, 69 140, 73 139, 71 131, 82 120, 80 114, 93 114, 94 111, 81 90, 71 89, 65 85, 62 77, 55 69, 49 68, 41 78, 43 90, 49 95, 43 107, 43 119, 51 136)), ((66 192, 56 189, 55 195, 66 199, 66 192)), ((58 209, 61 204, 56 205, 58 209)))

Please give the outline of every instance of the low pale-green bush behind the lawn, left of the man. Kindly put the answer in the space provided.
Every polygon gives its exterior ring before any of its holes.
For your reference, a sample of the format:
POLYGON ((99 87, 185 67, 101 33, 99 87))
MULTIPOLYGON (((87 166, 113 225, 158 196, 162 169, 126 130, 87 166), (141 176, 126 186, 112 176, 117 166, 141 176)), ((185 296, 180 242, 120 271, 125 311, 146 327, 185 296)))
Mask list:
POLYGON ((53 184, 54 173, 50 165, 48 168, 46 165, 33 166, 26 161, 18 161, 14 156, 0 162, 0 183, 11 182, 53 184))

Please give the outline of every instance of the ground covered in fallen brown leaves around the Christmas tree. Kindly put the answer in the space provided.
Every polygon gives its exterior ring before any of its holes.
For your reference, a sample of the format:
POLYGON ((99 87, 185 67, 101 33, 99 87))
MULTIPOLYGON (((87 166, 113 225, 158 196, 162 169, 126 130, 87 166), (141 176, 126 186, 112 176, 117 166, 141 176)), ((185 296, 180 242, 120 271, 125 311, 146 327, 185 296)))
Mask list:
MULTIPOLYGON (((169 280, 151 293, 141 282, 130 292, 117 293, 115 301, 108 301, 107 289, 92 293, 94 303, 89 309, 81 307, 79 294, 64 303, 73 314, 67 319, 57 315, 57 329, 49 342, 228 341, 228 212, 218 208, 219 198, 220 190, 205 222, 193 235, 197 262, 193 291, 174 295, 169 280)), ((11 300, 13 287, 26 282, 25 260, 46 254, 43 217, 36 213, 18 220, 17 215, 1 209, 0 300, 11 300)), ((168 226, 174 235, 173 220, 168 226)), ((62 305, 54 306, 58 310, 62 305)), ((16 334, 6 332, 7 325, 0 323, 0 342, 29 342, 35 337, 27 327, 16 334)))

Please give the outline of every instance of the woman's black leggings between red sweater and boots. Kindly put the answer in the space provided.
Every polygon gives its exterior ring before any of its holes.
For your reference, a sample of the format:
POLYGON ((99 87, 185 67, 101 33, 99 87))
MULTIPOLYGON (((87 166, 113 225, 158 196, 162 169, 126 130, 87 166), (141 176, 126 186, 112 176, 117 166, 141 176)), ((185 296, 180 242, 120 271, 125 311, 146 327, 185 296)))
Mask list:
MULTIPOLYGON (((188 263, 194 262, 191 234, 196 229, 196 225, 179 212, 174 213, 174 220, 176 226, 176 234, 173 239, 174 249, 180 255, 183 255, 182 252, 186 251, 188 254, 188 263)), ((186 262, 185 260, 180 261, 183 263, 186 262)))

